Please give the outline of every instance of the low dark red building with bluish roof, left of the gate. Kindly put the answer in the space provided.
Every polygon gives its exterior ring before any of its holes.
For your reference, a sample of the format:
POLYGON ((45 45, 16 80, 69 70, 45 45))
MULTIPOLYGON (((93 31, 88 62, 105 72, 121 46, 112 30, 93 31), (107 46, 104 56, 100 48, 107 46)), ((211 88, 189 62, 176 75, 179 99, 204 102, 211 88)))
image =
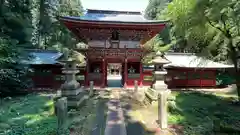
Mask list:
MULTIPOLYGON (((33 86, 31 90, 57 90, 65 81, 62 73, 63 63, 59 62, 63 58, 63 53, 54 50, 26 50, 31 57, 23 61, 32 69, 30 77, 33 86)), ((79 73, 76 75, 77 81, 84 85, 84 65, 77 65, 79 73)))

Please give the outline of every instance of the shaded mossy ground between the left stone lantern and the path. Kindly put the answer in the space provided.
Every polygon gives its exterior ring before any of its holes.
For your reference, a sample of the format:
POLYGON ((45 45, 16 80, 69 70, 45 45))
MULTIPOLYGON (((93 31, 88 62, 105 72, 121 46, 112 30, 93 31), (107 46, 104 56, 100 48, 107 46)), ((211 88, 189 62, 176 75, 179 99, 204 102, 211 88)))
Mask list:
POLYGON ((109 99, 108 96, 104 96, 95 93, 80 110, 72 111, 69 117, 71 135, 104 135, 106 103, 109 99))

